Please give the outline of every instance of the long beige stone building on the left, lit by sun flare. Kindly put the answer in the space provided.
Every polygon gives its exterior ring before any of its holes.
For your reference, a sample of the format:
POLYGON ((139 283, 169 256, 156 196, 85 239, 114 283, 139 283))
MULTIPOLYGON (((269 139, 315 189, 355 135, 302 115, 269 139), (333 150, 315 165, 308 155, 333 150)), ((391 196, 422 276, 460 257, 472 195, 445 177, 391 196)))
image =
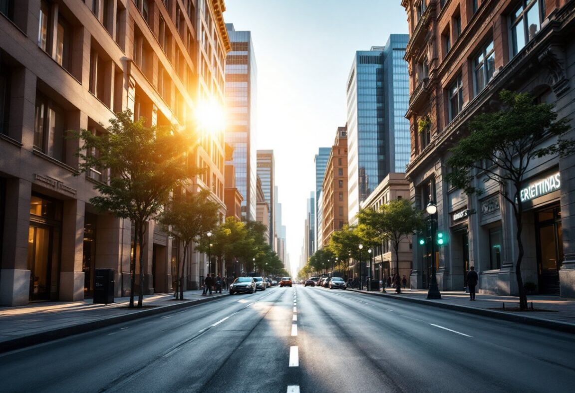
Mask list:
MULTIPOLYGON (((129 294, 132 226, 96 211, 93 186, 74 176, 79 141, 66 130, 105 132, 115 111, 148 125, 194 126, 202 100, 223 103, 229 41, 222 0, 8 0, 0 9, 0 304, 80 300, 94 269, 112 268, 129 294), (104 125, 104 126, 102 126, 104 125)), ((202 130, 192 160, 208 168, 190 191, 224 199, 223 133, 202 130)), ((172 288, 179 246, 148 226, 144 293, 172 288)), ((205 274, 191 256, 187 285, 205 274)))

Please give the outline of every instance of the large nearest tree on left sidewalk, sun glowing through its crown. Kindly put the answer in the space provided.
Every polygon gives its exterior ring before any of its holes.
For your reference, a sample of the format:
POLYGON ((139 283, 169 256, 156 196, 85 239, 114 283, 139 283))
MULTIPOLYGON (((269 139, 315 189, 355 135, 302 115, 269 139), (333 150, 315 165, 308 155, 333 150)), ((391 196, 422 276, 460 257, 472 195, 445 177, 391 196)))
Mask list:
POLYGON ((139 255, 139 299, 142 306, 144 288, 143 247, 147 222, 169 201, 170 194, 185 179, 197 174, 186 163, 186 154, 194 147, 189 133, 169 128, 145 126, 145 119, 132 120, 131 111, 117 113, 110 119, 106 133, 90 130, 75 132, 83 141, 76 155, 81 158, 80 171, 109 169, 108 182, 95 184, 99 191, 90 203, 102 212, 129 218, 135 225, 134 252, 130 261, 130 307, 134 306, 136 256, 139 255))

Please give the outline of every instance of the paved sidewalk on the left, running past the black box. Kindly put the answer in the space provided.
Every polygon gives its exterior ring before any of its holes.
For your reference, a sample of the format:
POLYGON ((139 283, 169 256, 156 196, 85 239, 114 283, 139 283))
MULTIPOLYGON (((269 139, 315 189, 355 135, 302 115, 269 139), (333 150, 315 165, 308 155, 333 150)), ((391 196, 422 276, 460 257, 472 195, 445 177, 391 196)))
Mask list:
MULTIPOLYGON (((94 305, 93 299, 85 299, 0 307, 0 353, 209 302, 227 294, 225 291, 221 295, 202 295, 201 290, 185 291, 185 300, 174 300, 174 294, 144 295, 141 309, 129 309, 129 297, 115 298, 109 305, 94 305)), ((137 300, 136 295, 135 305, 137 300)))

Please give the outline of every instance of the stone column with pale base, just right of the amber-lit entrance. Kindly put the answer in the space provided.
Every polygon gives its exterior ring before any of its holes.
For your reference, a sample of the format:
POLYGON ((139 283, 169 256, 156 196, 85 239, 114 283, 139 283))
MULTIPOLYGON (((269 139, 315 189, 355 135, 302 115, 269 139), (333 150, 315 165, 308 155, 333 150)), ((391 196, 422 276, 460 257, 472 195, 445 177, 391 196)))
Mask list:
POLYGON ((62 217, 62 261, 60 300, 74 302, 84 298, 82 271, 85 202, 64 201, 62 217))

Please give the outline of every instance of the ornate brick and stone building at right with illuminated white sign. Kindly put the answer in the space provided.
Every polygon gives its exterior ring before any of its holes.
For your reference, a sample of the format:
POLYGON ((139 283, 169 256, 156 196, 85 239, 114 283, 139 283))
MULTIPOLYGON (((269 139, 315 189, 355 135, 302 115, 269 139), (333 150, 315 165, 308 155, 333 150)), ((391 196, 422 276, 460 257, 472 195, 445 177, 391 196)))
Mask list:
MULTIPOLYGON (((539 102, 555 103, 559 118, 573 118, 575 2, 403 0, 402 5, 410 32, 407 177, 416 206, 436 202, 438 229, 450 239, 433 258, 439 288, 461 290, 474 265, 480 292, 517 294, 511 207, 496 184, 483 182, 485 174, 476 174, 481 195, 451 188, 444 182, 445 161, 448 149, 465 136, 467 122, 499 107, 503 89, 531 93, 539 102)), ((574 164, 574 157, 547 156, 532 161, 524 176, 524 188, 545 179, 555 186, 524 203, 523 280, 534 282, 540 293, 568 298, 575 297, 574 164)), ((426 288, 431 255, 414 247, 413 259, 412 286, 426 288)))

